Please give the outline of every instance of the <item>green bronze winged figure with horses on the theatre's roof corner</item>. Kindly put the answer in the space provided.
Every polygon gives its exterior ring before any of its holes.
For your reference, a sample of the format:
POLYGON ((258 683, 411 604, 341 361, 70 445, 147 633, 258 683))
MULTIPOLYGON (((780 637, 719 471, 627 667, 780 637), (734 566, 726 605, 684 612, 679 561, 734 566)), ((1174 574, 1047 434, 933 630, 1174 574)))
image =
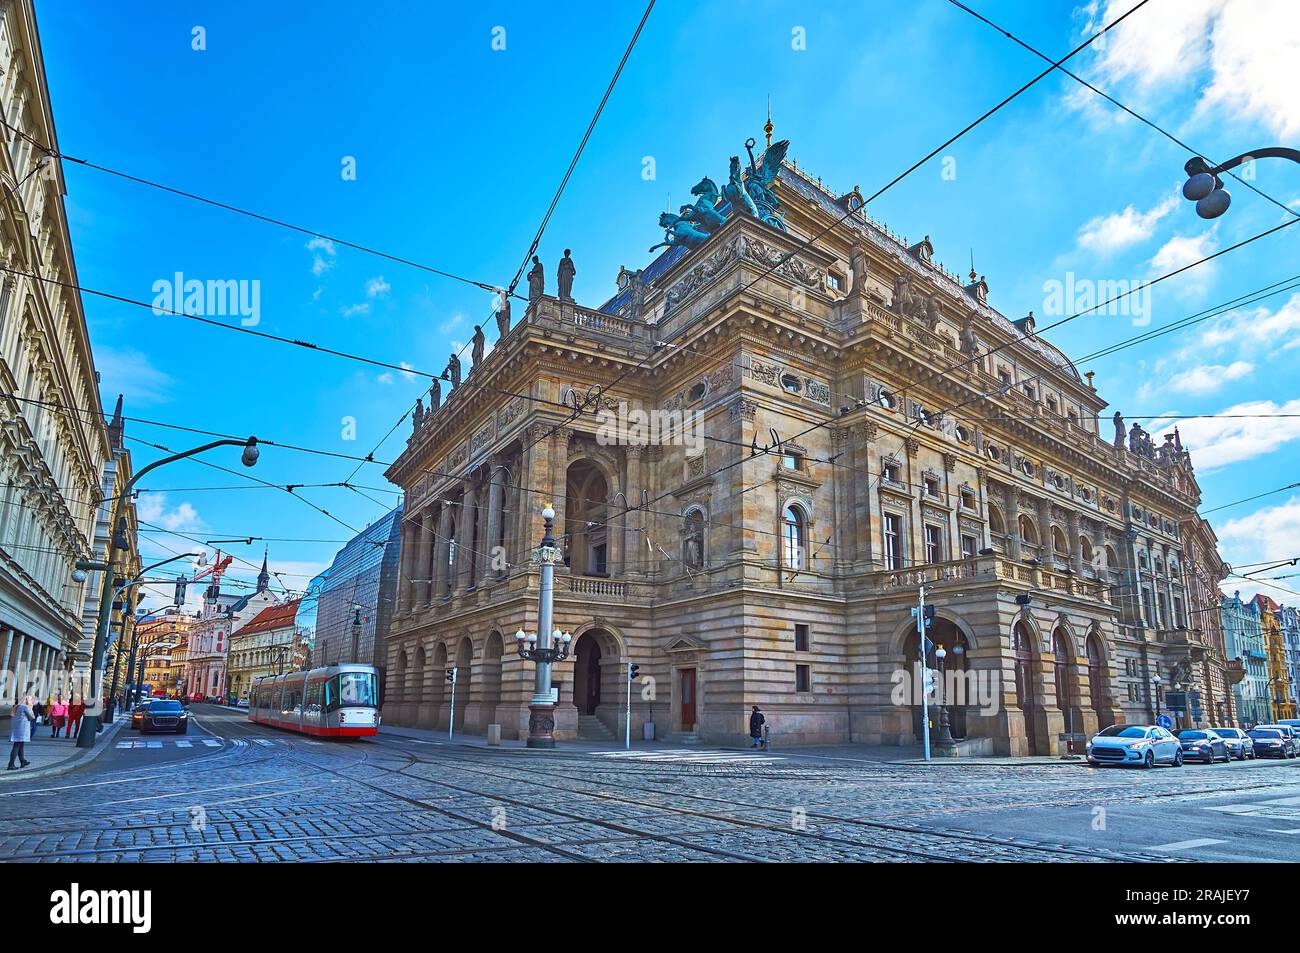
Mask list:
POLYGON ((754 139, 748 139, 745 150, 749 152, 749 169, 741 168, 740 156, 732 156, 727 185, 723 186, 722 194, 711 178, 707 176, 702 178, 690 190, 696 196, 694 204, 681 205, 677 215, 664 212, 659 216, 659 228, 666 233, 664 241, 653 246, 650 251, 679 244, 698 248, 737 209, 784 231, 781 202, 771 186, 781 170, 789 147, 789 139, 768 146, 759 164, 754 159, 754 139))

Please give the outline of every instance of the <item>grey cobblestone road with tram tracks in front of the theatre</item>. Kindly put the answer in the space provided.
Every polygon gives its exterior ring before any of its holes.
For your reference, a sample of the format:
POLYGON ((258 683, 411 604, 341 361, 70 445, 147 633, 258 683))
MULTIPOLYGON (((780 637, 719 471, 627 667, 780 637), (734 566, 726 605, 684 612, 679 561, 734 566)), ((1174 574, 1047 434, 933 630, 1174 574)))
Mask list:
POLYGON ((1152 771, 351 742, 195 706, 0 785, 5 861, 1296 861, 1300 761, 1152 771))

